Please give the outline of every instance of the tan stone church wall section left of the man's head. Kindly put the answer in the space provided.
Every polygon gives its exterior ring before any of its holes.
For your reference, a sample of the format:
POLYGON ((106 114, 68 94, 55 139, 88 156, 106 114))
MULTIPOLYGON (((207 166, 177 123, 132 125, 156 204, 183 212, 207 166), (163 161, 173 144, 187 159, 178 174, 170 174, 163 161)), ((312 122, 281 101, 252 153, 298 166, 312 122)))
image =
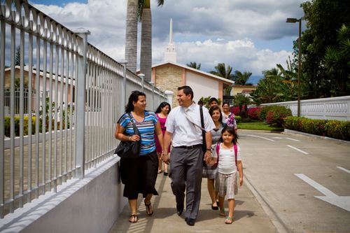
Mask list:
POLYGON ((176 101, 177 87, 184 85, 183 72, 184 69, 178 66, 164 65, 158 66, 155 69, 155 86, 161 90, 169 90, 174 92, 172 108, 178 106, 176 101))

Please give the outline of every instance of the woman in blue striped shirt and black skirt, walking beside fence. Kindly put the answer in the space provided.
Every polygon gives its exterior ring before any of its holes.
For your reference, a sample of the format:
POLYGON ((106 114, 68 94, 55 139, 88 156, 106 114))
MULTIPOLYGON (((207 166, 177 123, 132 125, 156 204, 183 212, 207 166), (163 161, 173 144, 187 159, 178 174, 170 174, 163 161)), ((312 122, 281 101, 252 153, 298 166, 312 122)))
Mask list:
POLYGON ((122 158, 120 160, 120 177, 124 186, 124 197, 129 199, 131 215, 130 223, 137 223, 137 197, 139 193, 144 196, 144 204, 148 216, 153 214, 151 198, 158 195, 155 190, 155 181, 158 171, 158 156, 155 153, 156 133, 162 142, 162 129, 155 113, 146 111, 146 94, 144 92, 134 91, 130 94, 129 101, 123 114, 117 122, 116 139, 120 141, 139 141, 141 140, 140 155, 137 158, 122 158), (129 114, 132 118, 130 118, 129 114), (134 134, 132 122, 136 125, 141 134, 134 134))

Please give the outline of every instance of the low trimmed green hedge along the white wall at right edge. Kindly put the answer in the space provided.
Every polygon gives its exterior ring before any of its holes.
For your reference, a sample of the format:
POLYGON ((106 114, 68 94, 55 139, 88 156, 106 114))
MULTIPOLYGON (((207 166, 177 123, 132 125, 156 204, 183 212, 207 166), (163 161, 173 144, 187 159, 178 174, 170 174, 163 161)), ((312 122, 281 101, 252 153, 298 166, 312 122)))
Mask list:
POLYGON ((350 141, 350 121, 317 120, 290 116, 284 119, 283 127, 308 134, 350 141))

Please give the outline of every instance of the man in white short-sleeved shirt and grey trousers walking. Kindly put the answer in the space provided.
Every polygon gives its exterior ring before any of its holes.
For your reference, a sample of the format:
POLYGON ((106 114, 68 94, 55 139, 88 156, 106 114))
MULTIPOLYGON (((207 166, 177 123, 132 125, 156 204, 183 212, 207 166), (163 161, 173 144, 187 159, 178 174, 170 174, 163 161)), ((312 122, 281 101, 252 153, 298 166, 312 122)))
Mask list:
POLYGON ((189 86, 178 88, 176 97, 179 106, 167 117, 162 160, 170 161, 169 177, 172 179, 172 191, 176 197, 176 211, 183 212, 186 190, 185 220, 190 226, 195 225, 200 209, 203 158, 211 159, 211 129, 215 128, 207 108, 203 109, 205 141, 207 150, 204 154, 202 145, 202 127, 200 106, 193 102, 193 90, 189 86), (172 141, 172 158, 167 154, 172 141), (203 157, 204 154, 204 157, 203 157))

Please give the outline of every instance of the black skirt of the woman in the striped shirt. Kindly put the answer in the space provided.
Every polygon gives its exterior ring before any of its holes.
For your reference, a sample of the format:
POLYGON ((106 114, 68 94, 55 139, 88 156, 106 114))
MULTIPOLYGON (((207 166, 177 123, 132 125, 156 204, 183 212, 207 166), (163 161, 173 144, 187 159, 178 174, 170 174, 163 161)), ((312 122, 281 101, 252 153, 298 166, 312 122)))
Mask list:
POLYGON ((158 156, 155 151, 134 159, 120 159, 120 178, 123 182, 123 196, 137 199, 139 193, 158 195, 155 181, 158 176, 158 156))

